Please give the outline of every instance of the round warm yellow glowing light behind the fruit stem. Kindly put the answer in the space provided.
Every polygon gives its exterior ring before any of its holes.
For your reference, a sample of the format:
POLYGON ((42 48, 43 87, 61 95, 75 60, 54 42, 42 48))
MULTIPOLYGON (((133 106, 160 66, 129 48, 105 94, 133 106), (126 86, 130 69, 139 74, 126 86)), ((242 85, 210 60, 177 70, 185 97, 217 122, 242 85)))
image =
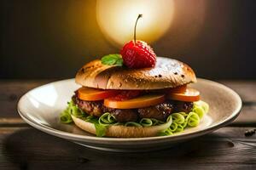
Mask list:
POLYGON ((133 39, 138 14, 137 39, 153 42, 160 38, 172 23, 172 0, 97 0, 96 16, 99 26, 110 42, 123 45, 133 39))

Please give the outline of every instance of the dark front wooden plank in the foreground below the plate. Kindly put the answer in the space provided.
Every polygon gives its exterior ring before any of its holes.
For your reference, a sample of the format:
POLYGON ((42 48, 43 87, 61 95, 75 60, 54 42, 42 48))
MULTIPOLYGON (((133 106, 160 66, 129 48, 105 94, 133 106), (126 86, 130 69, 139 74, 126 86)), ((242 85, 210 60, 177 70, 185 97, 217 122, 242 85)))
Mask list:
POLYGON ((166 150, 114 153, 88 149, 34 128, 4 127, 0 128, 0 169, 255 169, 256 136, 245 138, 247 128, 224 127, 166 150))

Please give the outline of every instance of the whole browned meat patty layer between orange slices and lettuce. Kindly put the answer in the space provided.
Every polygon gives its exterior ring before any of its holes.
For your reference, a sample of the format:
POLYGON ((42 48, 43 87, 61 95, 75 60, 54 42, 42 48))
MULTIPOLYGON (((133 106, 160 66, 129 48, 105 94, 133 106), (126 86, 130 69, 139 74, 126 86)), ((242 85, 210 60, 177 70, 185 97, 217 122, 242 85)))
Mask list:
POLYGON ((79 99, 77 95, 73 96, 73 101, 81 110, 90 116, 102 116, 103 113, 109 112, 117 122, 136 122, 140 118, 154 118, 160 121, 166 121, 166 118, 172 112, 184 111, 189 113, 193 109, 193 102, 182 102, 167 100, 159 105, 154 105, 141 109, 113 109, 103 105, 103 101, 85 101, 79 99))

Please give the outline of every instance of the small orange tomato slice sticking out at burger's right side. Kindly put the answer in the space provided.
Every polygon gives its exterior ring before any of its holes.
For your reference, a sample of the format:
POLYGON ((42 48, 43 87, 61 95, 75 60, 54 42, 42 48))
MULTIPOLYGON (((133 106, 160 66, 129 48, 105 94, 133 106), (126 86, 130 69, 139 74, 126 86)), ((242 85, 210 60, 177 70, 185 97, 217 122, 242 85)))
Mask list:
POLYGON ((200 92, 194 88, 186 88, 184 93, 172 93, 167 94, 167 99, 174 99, 179 101, 198 101, 200 100, 200 92))

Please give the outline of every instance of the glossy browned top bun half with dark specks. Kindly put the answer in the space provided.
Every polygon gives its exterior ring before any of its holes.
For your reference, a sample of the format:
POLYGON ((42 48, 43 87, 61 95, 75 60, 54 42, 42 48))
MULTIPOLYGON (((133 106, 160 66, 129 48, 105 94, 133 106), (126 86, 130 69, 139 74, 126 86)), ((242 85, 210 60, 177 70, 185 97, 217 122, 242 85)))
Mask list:
POLYGON ((196 77, 189 65, 176 59, 157 57, 153 68, 143 69, 102 65, 101 60, 96 59, 84 65, 75 80, 90 88, 143 90, 176 88, 196 82, 196 77))

